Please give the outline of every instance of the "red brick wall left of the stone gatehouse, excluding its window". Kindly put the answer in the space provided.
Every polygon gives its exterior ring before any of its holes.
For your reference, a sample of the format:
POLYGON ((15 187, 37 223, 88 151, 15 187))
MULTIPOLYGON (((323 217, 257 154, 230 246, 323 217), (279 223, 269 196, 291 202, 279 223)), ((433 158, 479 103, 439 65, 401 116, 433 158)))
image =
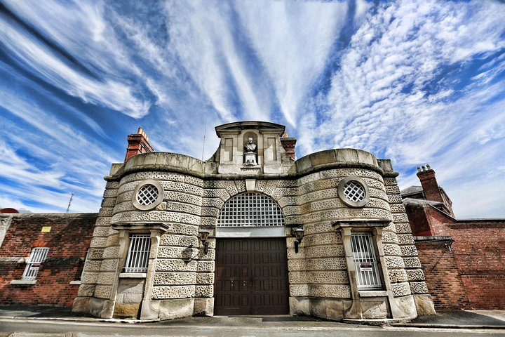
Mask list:
POLYGON ((72 306, 79 285, 83 260, 93 236, 97 214, 18 214, 0 247, 0 303, 72 306), (41 232, 42 227, 50 232, 41 232), (36 284, 11 284, 21 279, 32 247, 49 248, 36 284))

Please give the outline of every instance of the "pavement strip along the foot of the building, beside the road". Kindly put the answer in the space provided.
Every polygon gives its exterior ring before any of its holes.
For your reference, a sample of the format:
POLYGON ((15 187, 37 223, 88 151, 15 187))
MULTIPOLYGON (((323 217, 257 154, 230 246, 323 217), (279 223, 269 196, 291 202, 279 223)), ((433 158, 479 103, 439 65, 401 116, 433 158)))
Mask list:
MULTIPOLYGON (((335 322, 315 317, 292 317, 290 315, 274 316, 215 316, 187 317, 170 321, 142 322, 130 319, 98 319, 71 308, 27 305, 0 305, 0 322, 2 319, 41 319, 73 322, 109 322, 138 324, 177 324, 179 326, 288 326, 290 324, 311 324, 314 326, 351 326, 343 322, 335 322)), ((359 324, 366 324, 361 321, 359 324)), ((386 324, 398 327, 439 328, 439 329, 499 329, 505 331, 505 310, 438 310, 437 315, 420 316, 406 323, 386 324)))

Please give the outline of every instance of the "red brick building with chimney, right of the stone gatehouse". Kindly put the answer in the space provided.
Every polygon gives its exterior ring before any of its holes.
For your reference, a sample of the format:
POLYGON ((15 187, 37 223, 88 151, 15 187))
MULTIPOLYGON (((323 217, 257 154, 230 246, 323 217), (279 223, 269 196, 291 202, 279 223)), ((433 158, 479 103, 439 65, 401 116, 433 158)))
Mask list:
POLYGON ((505 219, 456 219, 429 165, 401 191, 426 284, 440 309, 505 309, 505 219))

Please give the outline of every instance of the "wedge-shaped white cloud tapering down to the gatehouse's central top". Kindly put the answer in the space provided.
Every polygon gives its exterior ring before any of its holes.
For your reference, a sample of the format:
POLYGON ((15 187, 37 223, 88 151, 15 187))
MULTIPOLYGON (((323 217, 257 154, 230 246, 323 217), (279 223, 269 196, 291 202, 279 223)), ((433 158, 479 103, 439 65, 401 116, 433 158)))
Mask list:
POLYGON ((255 52, 274 86, 278 105, 292 126, 321 76, 330 48, 344 24, 346 4, 286 1, 237 3, 255 52))

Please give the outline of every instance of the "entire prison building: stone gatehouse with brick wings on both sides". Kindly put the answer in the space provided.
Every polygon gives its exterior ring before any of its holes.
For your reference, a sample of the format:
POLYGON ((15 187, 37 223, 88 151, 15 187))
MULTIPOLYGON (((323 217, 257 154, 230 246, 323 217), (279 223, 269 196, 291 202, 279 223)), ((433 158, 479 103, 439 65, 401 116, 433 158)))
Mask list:
POLYGON ((128 136, 99 213, 1 214, 0 303, 142 319, 504 308, 504 220, 455 219, 429 166, 400 195, 368 152, 295 160, 266 122, 216 133, 207 161, 128 136))

